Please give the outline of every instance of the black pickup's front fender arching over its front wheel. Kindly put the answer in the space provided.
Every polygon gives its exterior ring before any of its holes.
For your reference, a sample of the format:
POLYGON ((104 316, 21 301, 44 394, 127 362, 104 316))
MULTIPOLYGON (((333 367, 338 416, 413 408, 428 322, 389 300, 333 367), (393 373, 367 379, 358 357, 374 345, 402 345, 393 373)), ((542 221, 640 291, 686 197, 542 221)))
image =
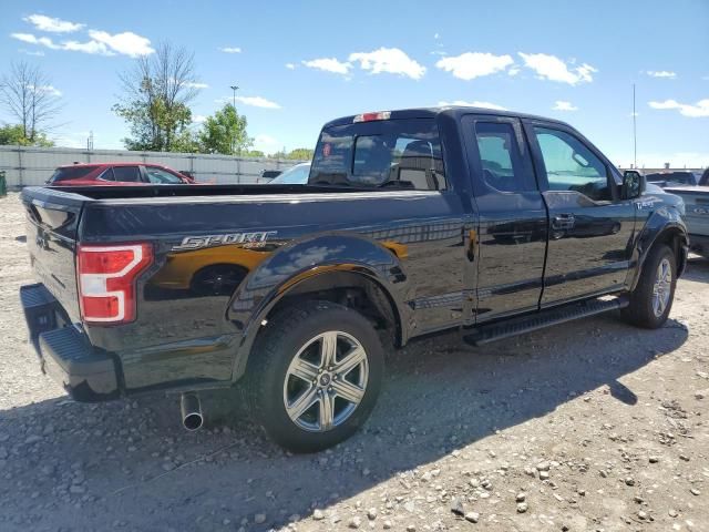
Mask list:
MULTIPOLYGON (((638 213, 643 213, 640 206, 638 206, 638 213)), ((660 208, 654 211, 645 221, 645 225, 639 231, 635 241, 633 249, 633 259, 630 262, 631 268, 629 272, 629 289, 634 290, 640 279, 640 273, 649 250, 653 248, 656 242, 661 242, 668 233, 678 235, 680 241, 680 256, 679 256, 679 273, 684 269, 682 264, 682 247, 686 247, 689 243, 687 236, 687 226, 682 221, 681 214, 674 205, 664 205, 660 208)))

